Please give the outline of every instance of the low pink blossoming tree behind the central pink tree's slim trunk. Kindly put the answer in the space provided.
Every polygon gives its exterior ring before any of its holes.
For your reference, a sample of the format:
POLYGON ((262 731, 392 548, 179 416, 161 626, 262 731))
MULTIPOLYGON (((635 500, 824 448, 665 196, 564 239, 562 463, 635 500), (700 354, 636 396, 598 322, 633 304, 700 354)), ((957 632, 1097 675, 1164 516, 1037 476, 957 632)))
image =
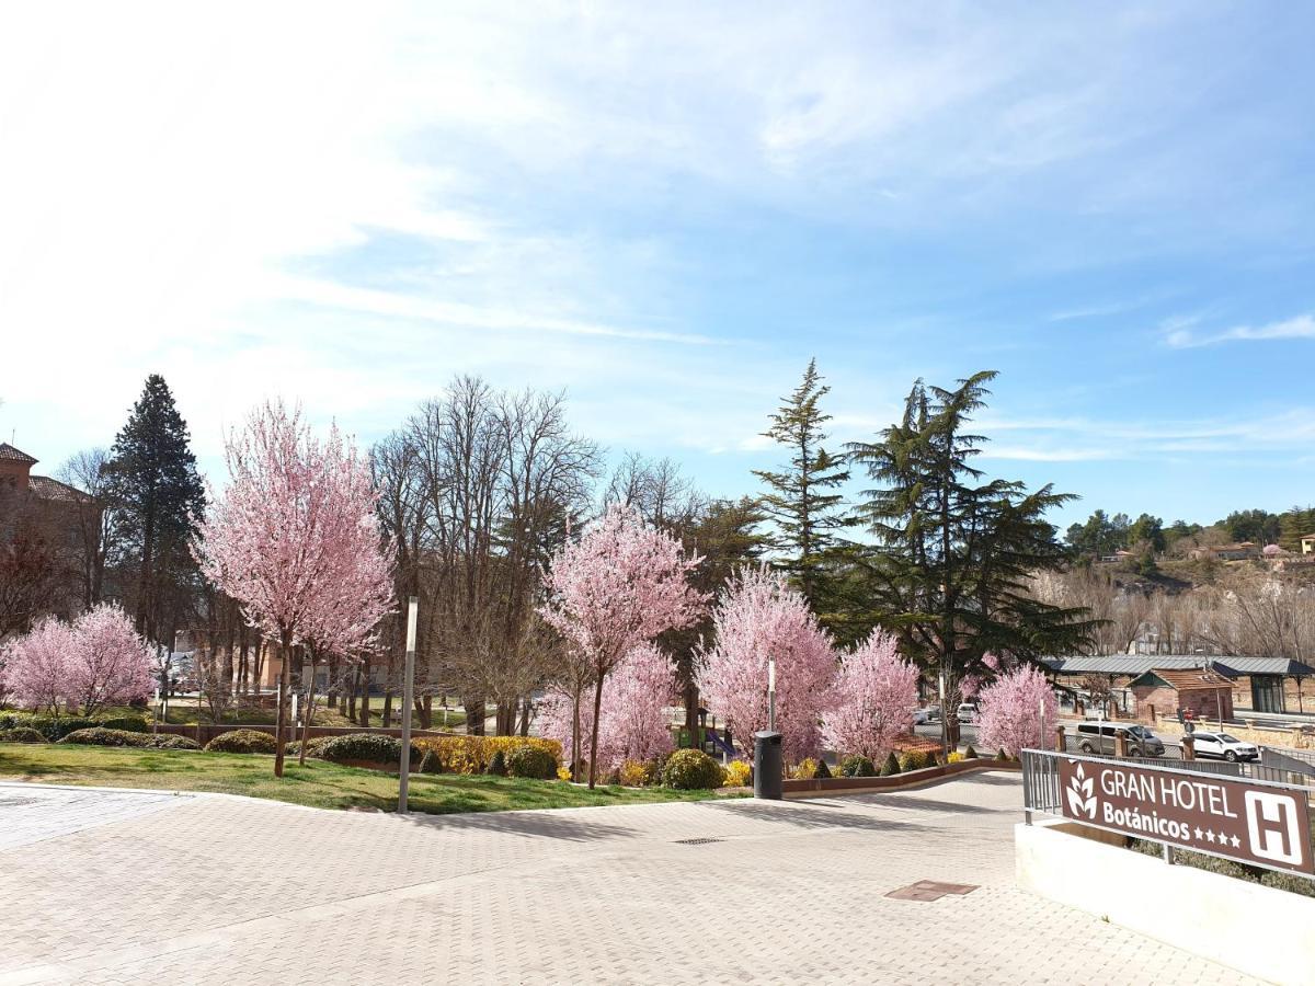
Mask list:
MULTIPOLYGON (((676 697, 672 660, 654 644, 640 644, 625 656, 602 690, 598 722, 598 766, 618 769, 626 760, 651 760, 672 748, 665 710, 676 697)), ((593 731, 593 710, 580 710, 580 728, 593 731)), ((575 701, 569 688, 548 693, 539 706, 544 736, 562 743, 567 763, 575 763, 575 701)))

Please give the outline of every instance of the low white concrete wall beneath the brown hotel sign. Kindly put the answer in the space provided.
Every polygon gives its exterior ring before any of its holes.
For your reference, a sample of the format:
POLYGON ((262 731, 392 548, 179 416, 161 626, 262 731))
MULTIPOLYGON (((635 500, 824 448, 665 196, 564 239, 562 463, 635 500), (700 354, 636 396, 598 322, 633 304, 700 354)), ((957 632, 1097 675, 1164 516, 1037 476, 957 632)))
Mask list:
POLYGON ((1018 885, 1248 975, 1315 982, 1315 898, 1169 866, 1078 831, 1102 835, 1063 822, 1018 824, 1018 885))

